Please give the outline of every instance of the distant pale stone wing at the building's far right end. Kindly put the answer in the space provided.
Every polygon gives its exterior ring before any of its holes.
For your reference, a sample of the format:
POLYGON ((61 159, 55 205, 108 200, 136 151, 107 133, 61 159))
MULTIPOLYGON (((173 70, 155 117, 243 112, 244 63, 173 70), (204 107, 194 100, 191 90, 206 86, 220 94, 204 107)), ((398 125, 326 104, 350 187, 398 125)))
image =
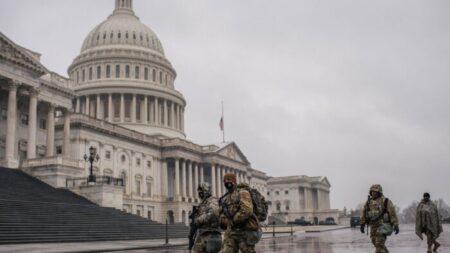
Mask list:
POLYGON ((339 211, 330 209, 330 183, 326 177, 273 177, 267 181, 269 215, 289 222, 303 218, 314 224, 326 218, 339 220, 339 211))

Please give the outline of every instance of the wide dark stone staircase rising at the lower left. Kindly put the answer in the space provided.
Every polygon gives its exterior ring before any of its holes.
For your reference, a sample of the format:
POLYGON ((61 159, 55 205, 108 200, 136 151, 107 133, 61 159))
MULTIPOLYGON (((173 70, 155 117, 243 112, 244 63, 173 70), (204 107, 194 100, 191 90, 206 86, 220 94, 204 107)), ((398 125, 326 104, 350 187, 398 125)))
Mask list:
MULTIPOLYGON (((186 238, 184 224, 169 237, 186 238)), ((0 167, 0 244, 165 238, 165 225, 100 207, 19 170, 0 167)))

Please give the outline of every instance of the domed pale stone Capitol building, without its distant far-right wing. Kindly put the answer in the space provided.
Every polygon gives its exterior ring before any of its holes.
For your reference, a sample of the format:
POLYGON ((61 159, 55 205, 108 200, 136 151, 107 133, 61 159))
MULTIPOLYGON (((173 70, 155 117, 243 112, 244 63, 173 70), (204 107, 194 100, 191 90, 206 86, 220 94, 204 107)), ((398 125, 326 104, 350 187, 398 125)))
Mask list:
MULTIPOLYGON (((277 178, 253 169, 236 143, 186 139, 176 71, 132 7, 132 0, 115 1, 113 13, 87 35, 68 78, 0 33, 1 166, 160 222, 186 223, 199 203, 198 183, 210 182, 221 196, 227 172, 267 195, 277 178), (95 184, 86 183, 90 147, 99 155, 95 184)), ((329 209, 329 197, 321 201, 329 209)), ((309 212, 324 219, 322 210, 309 212)))

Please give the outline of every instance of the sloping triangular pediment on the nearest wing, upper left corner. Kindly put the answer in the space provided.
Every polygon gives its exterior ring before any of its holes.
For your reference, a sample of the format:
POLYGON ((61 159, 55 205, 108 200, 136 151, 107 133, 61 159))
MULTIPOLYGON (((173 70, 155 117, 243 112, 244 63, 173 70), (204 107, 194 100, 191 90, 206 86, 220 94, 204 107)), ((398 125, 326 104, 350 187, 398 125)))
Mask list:
POLYGON ((46 74, 47 69, 24 48, 18 46, 3 33, 0 33, 0 58, 31 70, 38 76, 46 74))

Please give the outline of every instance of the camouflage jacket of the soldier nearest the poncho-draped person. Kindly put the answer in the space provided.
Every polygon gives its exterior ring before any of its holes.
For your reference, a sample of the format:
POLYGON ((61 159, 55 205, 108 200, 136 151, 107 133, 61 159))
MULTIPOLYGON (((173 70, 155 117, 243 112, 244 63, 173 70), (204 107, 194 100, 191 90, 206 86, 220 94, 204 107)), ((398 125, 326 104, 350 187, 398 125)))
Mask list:
POLYGON ((387 202, 387 210, 385 215, 380 216, 384 210, 384 200, 386 198, 381 196, 377 199, 370 199, 364 205, 361 213, 361 224, 377 225, 383 222, 389 222, 392 225, 398 225, 398 218, 395 212, 395 206, 391 200, 387 202), (378 218, 378 219, 377 219, 378 218))

